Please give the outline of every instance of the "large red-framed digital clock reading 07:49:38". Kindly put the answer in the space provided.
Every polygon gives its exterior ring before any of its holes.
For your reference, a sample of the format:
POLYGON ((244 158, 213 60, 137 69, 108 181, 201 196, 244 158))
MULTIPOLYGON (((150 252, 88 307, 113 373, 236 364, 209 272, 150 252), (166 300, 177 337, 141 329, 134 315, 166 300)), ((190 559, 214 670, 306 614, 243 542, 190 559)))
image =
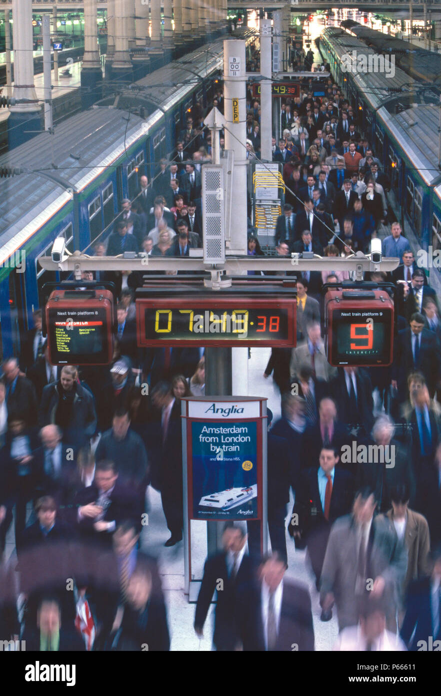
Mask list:
POLYGON ((295 298, 137 299, 138 345, 295 345, 295 298))

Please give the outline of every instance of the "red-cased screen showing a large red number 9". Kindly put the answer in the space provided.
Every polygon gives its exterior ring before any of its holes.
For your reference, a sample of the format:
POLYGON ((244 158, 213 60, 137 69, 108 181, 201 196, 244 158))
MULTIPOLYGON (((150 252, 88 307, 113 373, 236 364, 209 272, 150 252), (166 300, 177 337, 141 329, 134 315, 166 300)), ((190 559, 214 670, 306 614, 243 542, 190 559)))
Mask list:
POLYGON ((392 363, 394 303, 385 290, 331 290, 324 302, 328 363, 392 363))

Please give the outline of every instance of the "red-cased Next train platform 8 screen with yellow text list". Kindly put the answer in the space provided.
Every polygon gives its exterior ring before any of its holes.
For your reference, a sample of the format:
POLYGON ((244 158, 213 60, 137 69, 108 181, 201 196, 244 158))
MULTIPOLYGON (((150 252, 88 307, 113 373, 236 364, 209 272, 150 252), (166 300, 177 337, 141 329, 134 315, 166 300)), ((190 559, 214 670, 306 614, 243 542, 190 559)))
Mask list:
POLYGON ((108 365, 113 355, 113 295, 55 290, 46 305, 51 365, 108 365))

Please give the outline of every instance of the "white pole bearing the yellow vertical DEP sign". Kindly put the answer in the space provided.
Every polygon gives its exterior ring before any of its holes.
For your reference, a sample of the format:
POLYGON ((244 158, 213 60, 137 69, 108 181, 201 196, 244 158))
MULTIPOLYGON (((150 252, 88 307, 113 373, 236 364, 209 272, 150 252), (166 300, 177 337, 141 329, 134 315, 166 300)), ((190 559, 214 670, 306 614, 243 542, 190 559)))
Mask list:
POLYGON ((224 41, 224 99, 225 99, 225 149, 234 152, 233 193, 231 209, 234 224, 231 226, 231 249, 247 254, 247 78, 245 77, 245 42, 224 41), (235 58, 235 61, 233 61, 235 58), (233 99, 238 100, 233 122, 233 99))

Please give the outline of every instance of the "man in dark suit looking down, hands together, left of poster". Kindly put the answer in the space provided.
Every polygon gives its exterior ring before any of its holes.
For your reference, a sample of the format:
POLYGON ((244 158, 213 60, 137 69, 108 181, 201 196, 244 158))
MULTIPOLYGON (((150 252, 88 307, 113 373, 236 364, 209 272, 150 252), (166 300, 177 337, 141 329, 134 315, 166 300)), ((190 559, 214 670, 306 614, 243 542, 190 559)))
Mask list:
POLYGON ((132 519, 141 527, 138 496, 118 480, 113 461, 98 461, 94 482, 80 491, 75 500, 76 521, 85 540, 109 546, 117 523, 132 519))

